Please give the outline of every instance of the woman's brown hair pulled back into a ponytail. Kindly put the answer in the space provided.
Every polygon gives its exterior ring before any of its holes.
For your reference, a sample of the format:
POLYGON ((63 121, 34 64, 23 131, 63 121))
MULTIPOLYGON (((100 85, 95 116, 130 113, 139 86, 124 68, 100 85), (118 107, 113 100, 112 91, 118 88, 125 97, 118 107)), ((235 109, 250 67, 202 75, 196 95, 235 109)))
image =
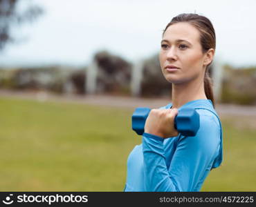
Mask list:
MULTIPOLYGON (((179 14, 178 16, 172 18, 172 21, 167 24, 165 30, 163 30, 163 34, 167 30, 167 28, 174 23, 179 22, 188 22, 191 23, 192 26, 197 28, 200 32, 200 42, 202 46, 202 52, 207 52, 210 48, 213 48, 215 50, 216 48, 216 36, 215 31, 212 26, 211 21, 204 16, 201 16, 199 14, 179 14)), ((208 64, 210 66, 210 64, 208 64)), ((204 76, 204 90, 205 95, 208 99, 212 101, 213 106, 215 106, 214 97, 213 97, 213 90, 212 90, 212 79, 209 76, 208 72, 208 66, 206 66, 205 70, 205 76, 204 76)))

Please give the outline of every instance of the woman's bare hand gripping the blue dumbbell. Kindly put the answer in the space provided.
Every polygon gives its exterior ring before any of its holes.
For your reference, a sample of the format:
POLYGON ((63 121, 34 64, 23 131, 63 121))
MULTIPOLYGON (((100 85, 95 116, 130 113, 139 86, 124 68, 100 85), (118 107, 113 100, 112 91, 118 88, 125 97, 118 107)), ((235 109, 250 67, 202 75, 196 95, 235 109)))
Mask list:
POLYGON ((176 108, 152 109, 145 123, 145 132, 158 137, 176 137, 179 132, 174 128, 174 118, 178 114, 176 108))

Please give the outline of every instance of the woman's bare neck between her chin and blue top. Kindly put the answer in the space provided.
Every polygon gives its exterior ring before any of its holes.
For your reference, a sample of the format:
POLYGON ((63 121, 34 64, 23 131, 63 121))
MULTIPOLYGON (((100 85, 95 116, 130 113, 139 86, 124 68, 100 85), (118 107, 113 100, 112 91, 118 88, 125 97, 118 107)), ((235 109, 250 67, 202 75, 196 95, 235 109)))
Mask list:
POLYGON ((186 83, 172 83, 172 108, 180 108, 197 99, 207 99, 201 77, 186 83))

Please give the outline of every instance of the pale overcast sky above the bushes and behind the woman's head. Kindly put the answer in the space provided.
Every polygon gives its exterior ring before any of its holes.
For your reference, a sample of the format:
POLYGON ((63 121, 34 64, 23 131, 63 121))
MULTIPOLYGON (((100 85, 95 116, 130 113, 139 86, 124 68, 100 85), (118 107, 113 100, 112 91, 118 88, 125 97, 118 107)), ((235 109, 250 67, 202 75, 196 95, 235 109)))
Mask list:
POLYGON ((26 41, 8 45, 0 66, 68 64, 83 66, 98 50, 128 61, 160 50, 172 17, 196 12, 208 17, 217 35, 215 58, 232 66, 256 66, 256 1, 33 0, 44 14, 14 30, 26 41))

